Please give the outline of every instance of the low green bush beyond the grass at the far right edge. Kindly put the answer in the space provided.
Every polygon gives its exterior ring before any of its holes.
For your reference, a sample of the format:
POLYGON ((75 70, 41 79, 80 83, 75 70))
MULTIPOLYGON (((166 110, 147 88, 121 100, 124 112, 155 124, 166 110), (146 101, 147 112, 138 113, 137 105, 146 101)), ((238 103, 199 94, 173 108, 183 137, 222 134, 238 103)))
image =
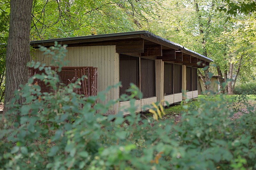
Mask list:
POLYGON ((234 94, 256 94, 256 82, 248 82, 235 86, 234 94))

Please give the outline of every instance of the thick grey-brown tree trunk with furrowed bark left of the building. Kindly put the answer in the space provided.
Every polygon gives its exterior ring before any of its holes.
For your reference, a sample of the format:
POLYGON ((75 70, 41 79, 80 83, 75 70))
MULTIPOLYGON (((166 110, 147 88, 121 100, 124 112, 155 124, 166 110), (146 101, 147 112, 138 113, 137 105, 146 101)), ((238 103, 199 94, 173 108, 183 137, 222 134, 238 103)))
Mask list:
MULTIPOLYGON (((33 0, 10 1, 10 26, 6 51, 6 79, 4 113, 19 85, 27 83, 29 61, 29 38, 33 0)), ((22 99, 18 101, 23 102, 22 99)))

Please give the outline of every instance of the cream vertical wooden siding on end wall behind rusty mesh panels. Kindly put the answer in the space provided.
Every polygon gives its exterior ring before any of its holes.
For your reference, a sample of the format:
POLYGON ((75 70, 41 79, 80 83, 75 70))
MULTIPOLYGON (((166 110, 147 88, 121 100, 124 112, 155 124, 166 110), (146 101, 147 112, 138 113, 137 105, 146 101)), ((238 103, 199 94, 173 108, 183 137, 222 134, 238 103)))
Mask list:
MULTIPOLYGON (((89 46, 89 47, 67 47, 68 52, 64 57, 69 63, 65 66, 92 66, 98 68, 98 92, 104 91, 108 86, 119 82, 119 55, 115 46, 89 46)), ((36 61, 53 66, 51 57, 36 50, 36 61)), ((100 101, 106 104, 109 100, 119 98, 119 88, 111 89, 106 95, 106 100, 100 101)), ((107 114, 118 111, 118 104, 109 110, 107 114)))

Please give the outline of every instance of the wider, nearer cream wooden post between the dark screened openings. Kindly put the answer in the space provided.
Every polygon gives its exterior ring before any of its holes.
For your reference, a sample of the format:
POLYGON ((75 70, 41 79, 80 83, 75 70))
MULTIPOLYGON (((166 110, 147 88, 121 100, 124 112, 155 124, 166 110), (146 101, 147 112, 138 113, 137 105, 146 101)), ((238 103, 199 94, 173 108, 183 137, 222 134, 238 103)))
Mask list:
MULTIPOLYGON (((164 62, 156 60, 156 100, 164 99, 164 62)), ((164 102, 161 102, 164 105, 164 102)))

